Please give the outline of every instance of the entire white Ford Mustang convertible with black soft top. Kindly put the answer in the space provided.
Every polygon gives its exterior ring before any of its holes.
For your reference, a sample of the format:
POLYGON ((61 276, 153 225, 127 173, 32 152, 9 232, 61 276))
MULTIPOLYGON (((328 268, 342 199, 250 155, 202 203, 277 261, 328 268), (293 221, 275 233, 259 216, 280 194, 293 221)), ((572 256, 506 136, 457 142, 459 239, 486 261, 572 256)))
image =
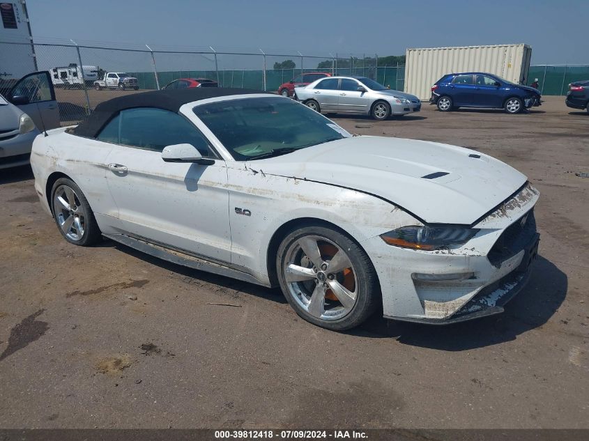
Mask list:
POLYGON ((263 286, 332 330, 497 314, 537 254, 526 176, 466 148, 354 137, 298 102, 229 88, 114 98, 31 164, 75 245, 106 236, 263 286))

